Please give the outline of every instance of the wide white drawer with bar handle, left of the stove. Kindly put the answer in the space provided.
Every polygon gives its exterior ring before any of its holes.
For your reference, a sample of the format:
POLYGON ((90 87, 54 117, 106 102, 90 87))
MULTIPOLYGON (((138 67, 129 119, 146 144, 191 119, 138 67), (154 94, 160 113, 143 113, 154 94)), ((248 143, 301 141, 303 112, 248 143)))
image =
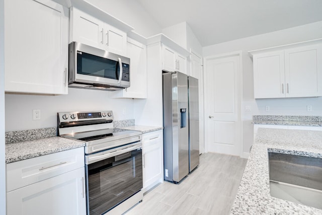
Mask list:
POLYGON ((84 148, 7 164, 7 192, 84 167, 84 148))

